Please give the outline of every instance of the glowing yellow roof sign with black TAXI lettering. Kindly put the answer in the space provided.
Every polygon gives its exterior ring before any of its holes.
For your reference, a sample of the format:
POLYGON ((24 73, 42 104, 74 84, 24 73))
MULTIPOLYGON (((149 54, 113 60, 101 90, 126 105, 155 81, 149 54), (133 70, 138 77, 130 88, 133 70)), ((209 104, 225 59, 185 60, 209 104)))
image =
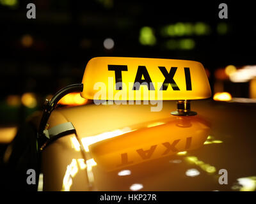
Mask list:
POLYGON ((200 62, 95 57, 86 65, 81 96, 96 100, 189 100, 211 97, 200 62))

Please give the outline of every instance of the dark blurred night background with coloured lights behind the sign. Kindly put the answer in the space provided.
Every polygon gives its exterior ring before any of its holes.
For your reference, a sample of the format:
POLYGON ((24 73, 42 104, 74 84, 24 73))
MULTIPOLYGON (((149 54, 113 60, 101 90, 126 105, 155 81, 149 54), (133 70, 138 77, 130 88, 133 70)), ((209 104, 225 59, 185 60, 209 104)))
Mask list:
POLYGON ((212 96, 222 94, 215 99, 256 98, 255 8, 232 1, 220 19, 220 3, 0 0, 0 126, 17 126, 45 98, 80 83, 99 56, 200 61, 212 96), (28 3, 36 19, 26 17, 28 3))

